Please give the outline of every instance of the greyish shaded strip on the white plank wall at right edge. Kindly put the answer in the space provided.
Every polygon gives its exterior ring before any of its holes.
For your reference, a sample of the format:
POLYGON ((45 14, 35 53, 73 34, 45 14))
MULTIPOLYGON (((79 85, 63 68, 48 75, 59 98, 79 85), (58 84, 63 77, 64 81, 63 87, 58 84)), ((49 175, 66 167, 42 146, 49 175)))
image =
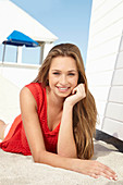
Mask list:
POLYGON ((102 131, 123 140, 123 32, 104 109, 102 131))

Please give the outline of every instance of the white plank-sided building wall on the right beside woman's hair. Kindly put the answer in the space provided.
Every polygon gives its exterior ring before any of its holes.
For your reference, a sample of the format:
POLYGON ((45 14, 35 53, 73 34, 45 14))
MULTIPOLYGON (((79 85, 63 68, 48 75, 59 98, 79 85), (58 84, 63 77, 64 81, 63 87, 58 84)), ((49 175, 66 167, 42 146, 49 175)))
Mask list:
POLYGON ((123 140, 123 0, 93 0, 86 73, 97 128, 123 140))

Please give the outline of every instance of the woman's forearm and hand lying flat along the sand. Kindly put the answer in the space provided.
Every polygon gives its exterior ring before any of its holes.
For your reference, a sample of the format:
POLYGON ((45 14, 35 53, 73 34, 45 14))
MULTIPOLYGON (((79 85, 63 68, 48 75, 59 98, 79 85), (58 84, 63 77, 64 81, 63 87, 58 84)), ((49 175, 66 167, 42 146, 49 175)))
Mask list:
POLYGON ((54 168, 62 168, 82 174, 90 175, 91 177, 99 177, 100 175, 116 180, 116 174, 107 165, 94 160, 81 160, 75 158, 64 158, 56 153, 41 150, 38 163, 45 163, 54 168))

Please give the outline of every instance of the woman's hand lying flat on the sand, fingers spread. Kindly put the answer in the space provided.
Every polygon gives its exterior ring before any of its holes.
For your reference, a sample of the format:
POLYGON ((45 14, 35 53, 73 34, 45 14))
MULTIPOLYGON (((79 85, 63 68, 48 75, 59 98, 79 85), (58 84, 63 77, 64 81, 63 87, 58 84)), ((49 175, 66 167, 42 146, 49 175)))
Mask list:
POLYGON ((95 178, 98 178, 99 176, 104 176, 109 180, 118 180, 118 176, 113 170, 98 161, 82 160, 82 162, 78 161, 77 168, 78 172, 95 178))

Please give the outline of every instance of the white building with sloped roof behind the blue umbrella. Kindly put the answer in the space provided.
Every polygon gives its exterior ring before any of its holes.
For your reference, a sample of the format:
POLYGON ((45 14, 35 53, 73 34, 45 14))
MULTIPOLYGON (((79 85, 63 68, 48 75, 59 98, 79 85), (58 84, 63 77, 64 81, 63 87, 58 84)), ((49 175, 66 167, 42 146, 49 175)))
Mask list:
MULTIPOLYGON (((51 32, 29 16, 10 0, 0 0, 0 44, 19 30, 40 45, 40 61, 58 39, 51 32)), ((0 50, 0 54, 3 54, 0 50)), ((22 63, 22 47, 19 47, 16 63, 0 61, 0 119, 12 122, 20 113, 20 89, 30 83, 38 73, 39 64, 22 63)), ((2 59, 2 58, 1 58, 2 59)))

